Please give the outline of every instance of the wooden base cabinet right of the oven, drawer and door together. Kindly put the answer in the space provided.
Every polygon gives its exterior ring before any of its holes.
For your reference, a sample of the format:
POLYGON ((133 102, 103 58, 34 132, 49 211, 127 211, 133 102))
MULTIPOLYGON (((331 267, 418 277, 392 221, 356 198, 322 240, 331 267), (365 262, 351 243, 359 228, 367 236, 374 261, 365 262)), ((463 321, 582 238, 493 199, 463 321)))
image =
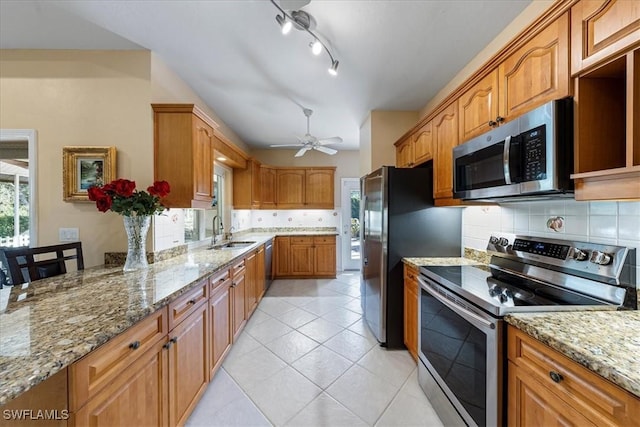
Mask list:
POLYGON ((509 326, 508 424, 637 425, 640 399, 509 326))

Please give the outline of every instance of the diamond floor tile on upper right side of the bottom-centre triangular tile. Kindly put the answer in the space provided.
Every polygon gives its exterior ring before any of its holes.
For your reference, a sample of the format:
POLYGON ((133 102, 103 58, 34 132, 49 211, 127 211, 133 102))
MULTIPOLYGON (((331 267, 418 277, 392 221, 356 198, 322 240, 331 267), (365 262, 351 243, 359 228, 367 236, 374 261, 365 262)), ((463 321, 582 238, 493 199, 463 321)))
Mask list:
POLYGON ((358 365, 353 365, 327 388, 326 392, 365 422, 373 425, 398 390, 399 387, 389 384, 388 381, 358 365))

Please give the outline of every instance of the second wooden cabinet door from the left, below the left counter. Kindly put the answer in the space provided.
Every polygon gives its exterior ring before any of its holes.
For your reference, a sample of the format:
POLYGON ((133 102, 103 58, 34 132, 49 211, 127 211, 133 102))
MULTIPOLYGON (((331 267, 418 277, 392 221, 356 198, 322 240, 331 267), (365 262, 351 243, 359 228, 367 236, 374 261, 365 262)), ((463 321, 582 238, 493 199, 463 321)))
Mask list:
POLYGON ((209 380, 207 304, 169 332, 169 425, 183 425, 209 380))

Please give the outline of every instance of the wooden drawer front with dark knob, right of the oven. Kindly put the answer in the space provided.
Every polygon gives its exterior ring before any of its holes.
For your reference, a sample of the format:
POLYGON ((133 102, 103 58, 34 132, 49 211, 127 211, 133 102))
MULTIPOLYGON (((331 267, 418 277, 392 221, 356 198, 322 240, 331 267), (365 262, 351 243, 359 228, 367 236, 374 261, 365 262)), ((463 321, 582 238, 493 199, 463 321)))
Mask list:
POLYGON ((508 336, 509 360, 595 424, 637 422, 640 399, 514 327, 508 336))

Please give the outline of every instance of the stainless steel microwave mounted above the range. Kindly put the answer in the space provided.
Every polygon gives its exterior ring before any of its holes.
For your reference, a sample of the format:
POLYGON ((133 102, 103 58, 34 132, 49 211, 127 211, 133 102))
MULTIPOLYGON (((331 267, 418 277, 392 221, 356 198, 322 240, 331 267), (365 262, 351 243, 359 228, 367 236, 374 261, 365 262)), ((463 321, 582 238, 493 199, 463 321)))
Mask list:
POLYGON ((573 195, 573 99, 548 102, 453 149, 453 197, 573 195))

